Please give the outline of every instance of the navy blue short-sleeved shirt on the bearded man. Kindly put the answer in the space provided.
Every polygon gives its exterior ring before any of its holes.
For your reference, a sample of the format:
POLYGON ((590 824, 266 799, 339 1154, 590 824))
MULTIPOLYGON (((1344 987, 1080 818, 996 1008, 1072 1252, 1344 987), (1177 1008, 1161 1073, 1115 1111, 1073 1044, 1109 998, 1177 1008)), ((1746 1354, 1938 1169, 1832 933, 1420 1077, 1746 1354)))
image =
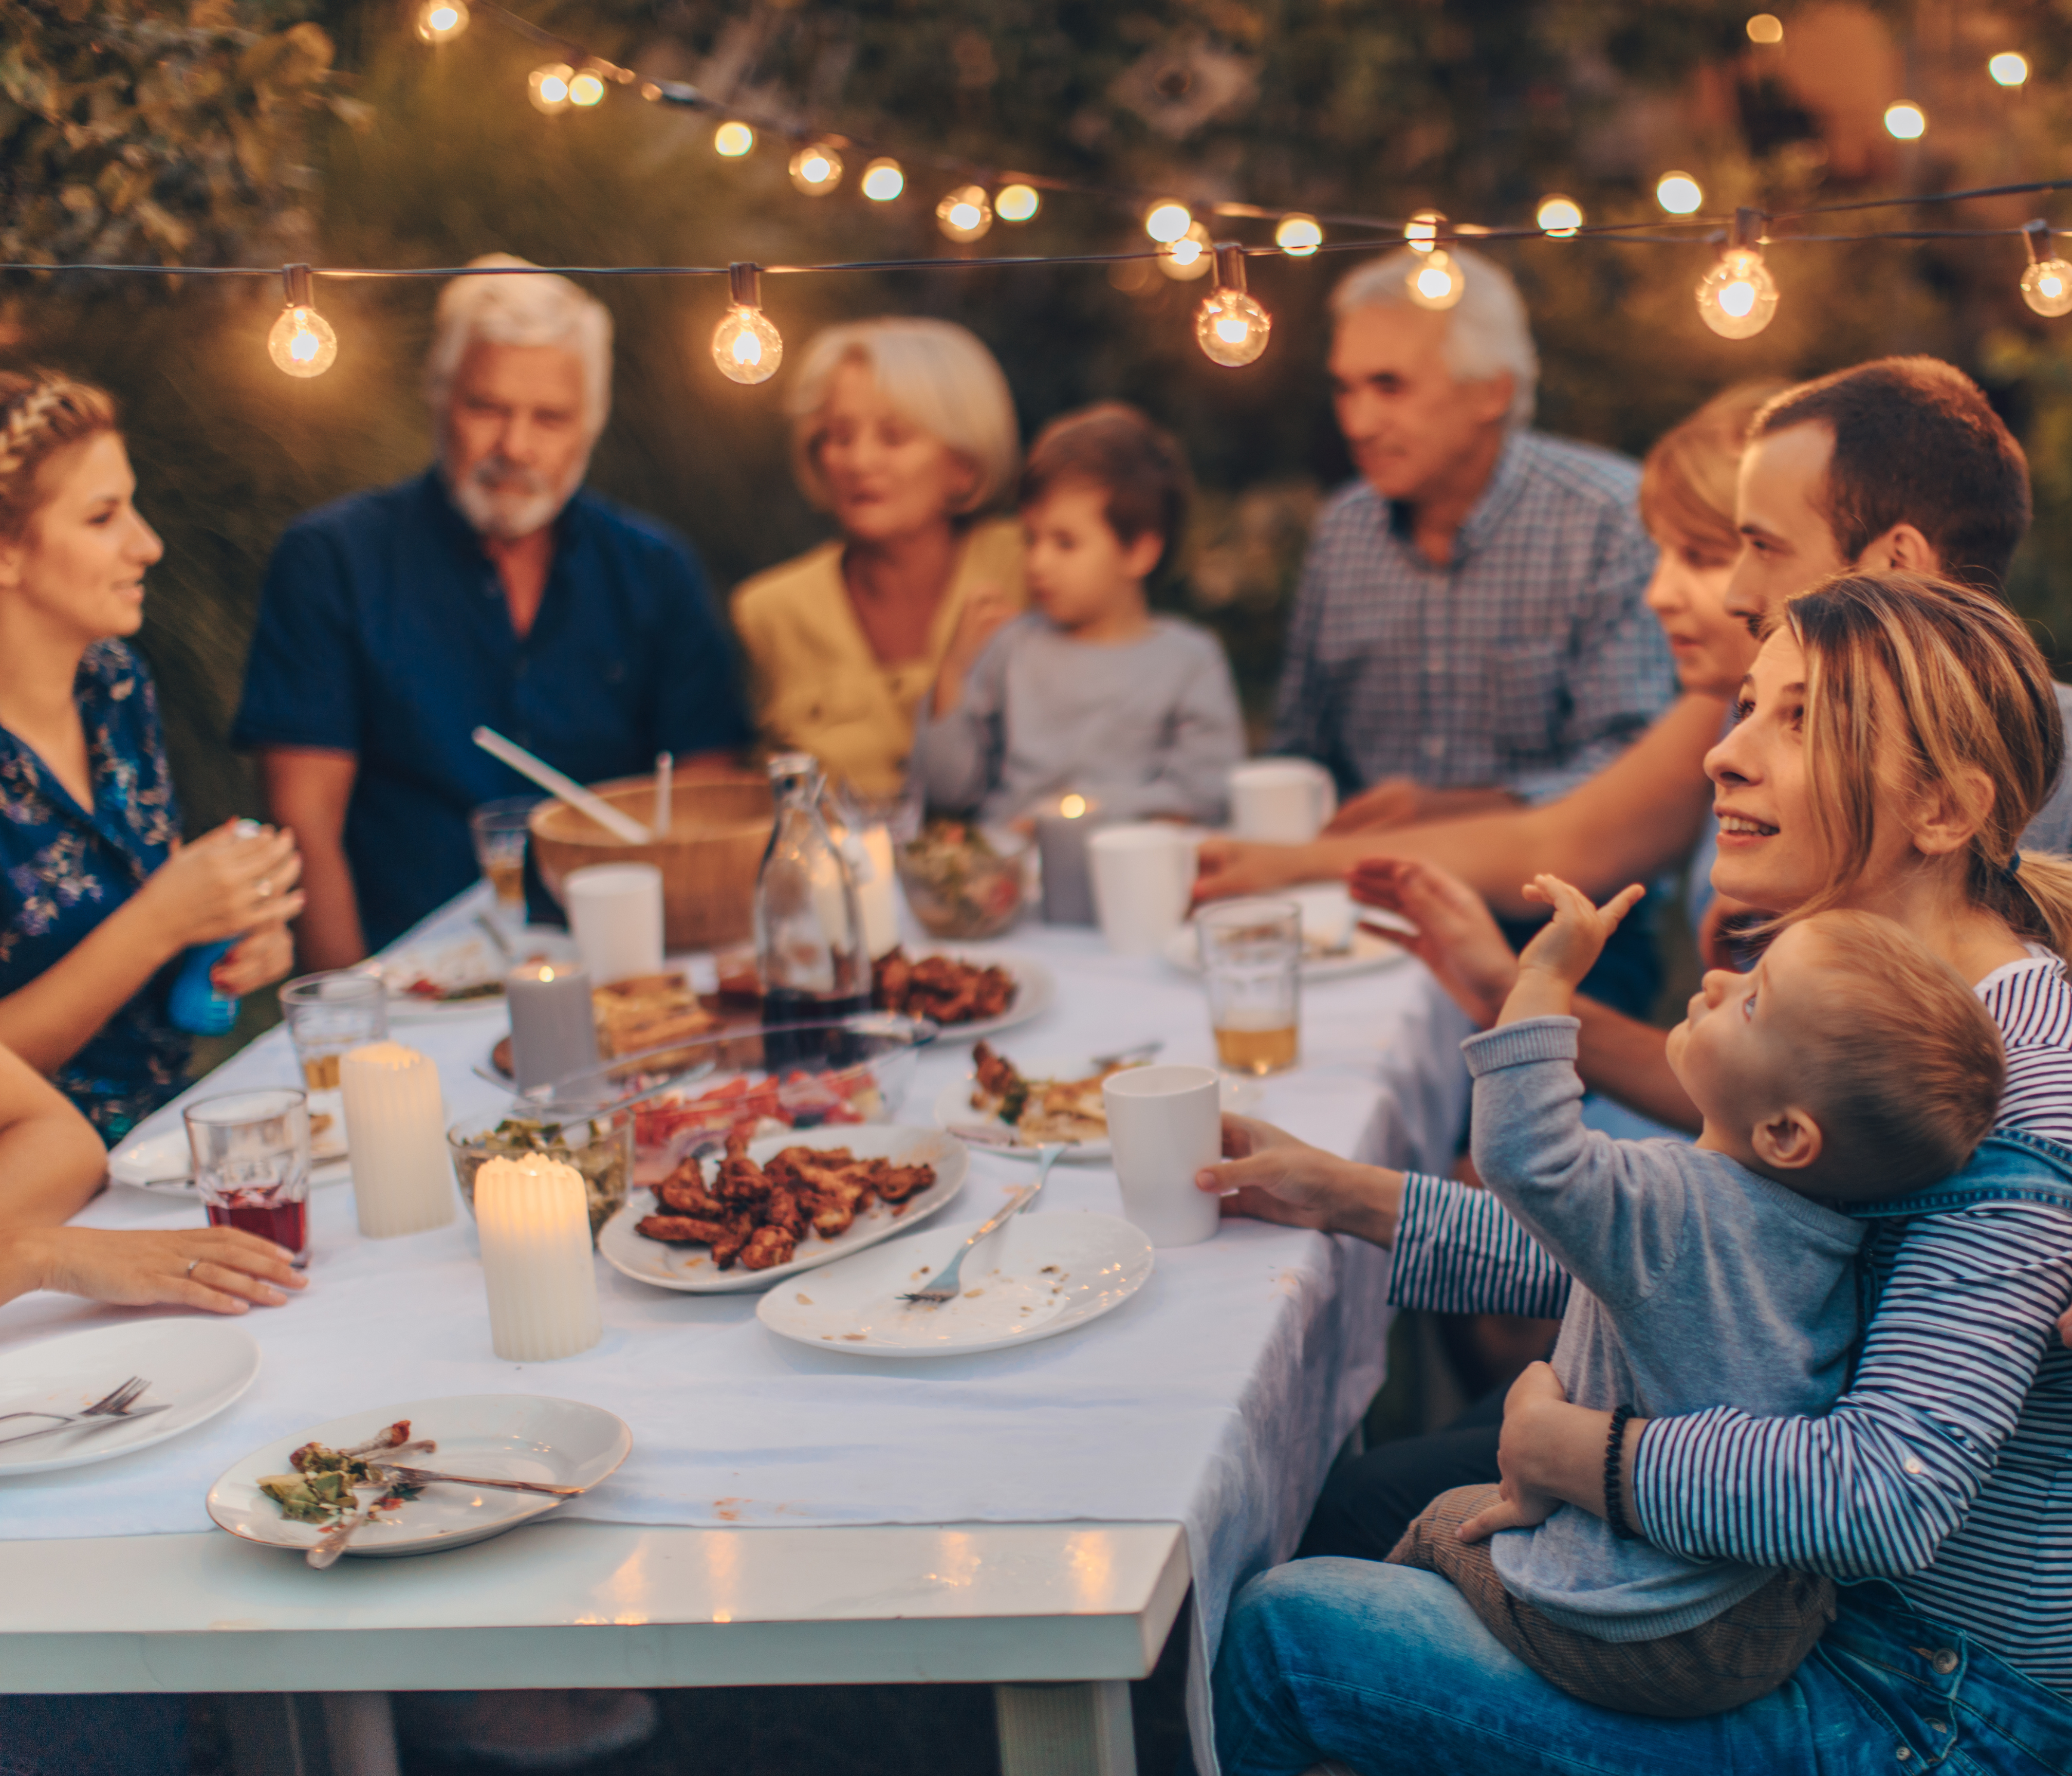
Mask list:
POLYGON ((346 860, 373 949, 479 877, 468 810, 533 790, 468 738, 477 725, 578 783, 746 742, 733 649, 684 539, 578 491, 520 640, 435 468, 290 524, 232 744, 358 758, 346 860))

